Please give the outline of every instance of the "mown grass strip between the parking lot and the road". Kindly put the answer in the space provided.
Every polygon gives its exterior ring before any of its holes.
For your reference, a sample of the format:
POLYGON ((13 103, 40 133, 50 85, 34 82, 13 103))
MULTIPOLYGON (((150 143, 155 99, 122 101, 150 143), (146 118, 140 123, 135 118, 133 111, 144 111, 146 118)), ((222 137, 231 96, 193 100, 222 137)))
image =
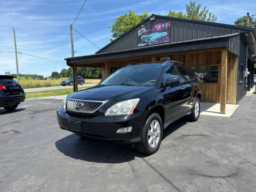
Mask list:
MULTIPOLYGON (((87 87, 78 87, 78 90, 88 88, 87 87)), ((26 93, 26 99, 29 98, 40 98, 40 97, 50 97, 50 96, 58 96, 58 95, 66 95, 73 92, 73 88, 68 89, 60 89, 60 90, 47 90, 47 91, 35 91, 26 93)))

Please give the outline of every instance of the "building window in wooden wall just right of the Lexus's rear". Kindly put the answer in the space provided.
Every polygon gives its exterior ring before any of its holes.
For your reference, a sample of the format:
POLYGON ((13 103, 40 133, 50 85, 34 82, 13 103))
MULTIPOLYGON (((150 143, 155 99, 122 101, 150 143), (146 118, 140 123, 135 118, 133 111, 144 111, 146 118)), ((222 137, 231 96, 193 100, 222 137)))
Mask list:
POLYGON ((219 82, 219 66, 192 67, 192 69, 203 83, 219 82))

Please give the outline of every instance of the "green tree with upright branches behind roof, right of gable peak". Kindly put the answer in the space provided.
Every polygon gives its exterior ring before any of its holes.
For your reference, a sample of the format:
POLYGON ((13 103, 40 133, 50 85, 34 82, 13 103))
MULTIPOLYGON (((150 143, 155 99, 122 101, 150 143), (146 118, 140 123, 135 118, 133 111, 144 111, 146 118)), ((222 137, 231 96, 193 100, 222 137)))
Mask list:
POLYGON ((217 17, 209 13, 209 9, 206 6, 200 10, 201 6, 201 4, 197 5, 195 1, 190 0, 190 5, 186 4, 186 15, 188 19, 215 22, 217 17))

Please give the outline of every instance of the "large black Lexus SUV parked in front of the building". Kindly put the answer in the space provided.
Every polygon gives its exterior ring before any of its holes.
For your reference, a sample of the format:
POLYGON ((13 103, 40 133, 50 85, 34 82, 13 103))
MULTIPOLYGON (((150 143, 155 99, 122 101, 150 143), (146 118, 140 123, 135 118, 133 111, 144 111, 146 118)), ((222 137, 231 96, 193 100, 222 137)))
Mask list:
POLYGON ((197 121, 199 83, 193 70, 177 61, 135 63, 67 95, 57 111, 58 123, 80 137, 132 143, 153 154, 170 123, 186 115, 197 121))

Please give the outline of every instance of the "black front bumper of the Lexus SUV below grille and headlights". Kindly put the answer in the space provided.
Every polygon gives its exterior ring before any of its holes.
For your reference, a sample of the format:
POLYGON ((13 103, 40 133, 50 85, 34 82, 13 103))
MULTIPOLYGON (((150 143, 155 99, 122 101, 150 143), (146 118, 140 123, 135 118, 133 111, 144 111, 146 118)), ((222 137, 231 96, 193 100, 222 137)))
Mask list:
POLYGON ((83 117, 67 113, 62 107, 57 110, 57 121, 61 129, 79 133, 87 137, 111 140, 119 143, 135 143, 140 141, 141 129, 146 113, 135 113, 126 116, 93 116, 83 117), (68 126, 68 121, 81 122, 81 131, 75 132, 68 126), (116 133, 122 127, 132 126, 129 133, 116 133))

